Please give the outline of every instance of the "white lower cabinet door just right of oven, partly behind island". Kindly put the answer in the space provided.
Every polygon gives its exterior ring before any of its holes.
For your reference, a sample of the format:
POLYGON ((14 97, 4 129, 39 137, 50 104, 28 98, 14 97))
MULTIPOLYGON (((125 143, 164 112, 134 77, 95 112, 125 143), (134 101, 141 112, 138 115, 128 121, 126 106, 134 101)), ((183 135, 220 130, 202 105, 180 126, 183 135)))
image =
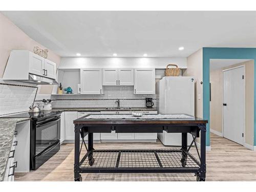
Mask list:
POLYGON ((77 119, 77 112, 65 112, 65 140, 74 140, 74 123, 73 120, 77 119))

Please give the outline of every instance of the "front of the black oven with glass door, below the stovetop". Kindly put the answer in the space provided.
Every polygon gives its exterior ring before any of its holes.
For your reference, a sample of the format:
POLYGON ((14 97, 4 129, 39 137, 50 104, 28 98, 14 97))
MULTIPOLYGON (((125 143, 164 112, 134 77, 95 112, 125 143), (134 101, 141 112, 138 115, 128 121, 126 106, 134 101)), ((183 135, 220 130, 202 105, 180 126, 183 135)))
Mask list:
POLYGON ((59 151, 60 115, 32 118, 30 131, 30 169, 35 170, 59 151))

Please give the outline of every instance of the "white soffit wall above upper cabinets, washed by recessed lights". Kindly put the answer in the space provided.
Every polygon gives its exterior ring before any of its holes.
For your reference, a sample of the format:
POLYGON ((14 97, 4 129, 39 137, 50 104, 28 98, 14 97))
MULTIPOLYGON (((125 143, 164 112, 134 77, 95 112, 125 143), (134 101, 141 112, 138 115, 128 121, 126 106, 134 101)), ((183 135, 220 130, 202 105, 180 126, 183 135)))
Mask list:
POLYGON ((59 68, 187 68, 186 57, 62 57, 59 68))

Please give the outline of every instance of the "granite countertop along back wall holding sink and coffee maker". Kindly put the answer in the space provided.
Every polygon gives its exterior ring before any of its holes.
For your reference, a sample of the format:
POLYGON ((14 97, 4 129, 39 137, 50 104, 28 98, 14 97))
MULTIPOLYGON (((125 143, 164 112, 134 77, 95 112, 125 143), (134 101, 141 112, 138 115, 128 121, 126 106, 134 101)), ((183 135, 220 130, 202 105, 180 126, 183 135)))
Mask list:
POLYGON ((156 108, 106 109, 106 108, 53 108, 53 111, 157 111, 156 108))

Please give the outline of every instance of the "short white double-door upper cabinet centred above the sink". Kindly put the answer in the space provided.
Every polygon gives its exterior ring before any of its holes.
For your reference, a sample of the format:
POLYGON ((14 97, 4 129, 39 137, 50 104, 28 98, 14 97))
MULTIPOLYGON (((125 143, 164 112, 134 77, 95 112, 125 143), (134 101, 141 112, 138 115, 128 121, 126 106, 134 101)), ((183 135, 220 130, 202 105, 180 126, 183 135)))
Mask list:
POLYGON ((131 68, 103 68, 103 86, 133 86, 134 69, 131 68))

